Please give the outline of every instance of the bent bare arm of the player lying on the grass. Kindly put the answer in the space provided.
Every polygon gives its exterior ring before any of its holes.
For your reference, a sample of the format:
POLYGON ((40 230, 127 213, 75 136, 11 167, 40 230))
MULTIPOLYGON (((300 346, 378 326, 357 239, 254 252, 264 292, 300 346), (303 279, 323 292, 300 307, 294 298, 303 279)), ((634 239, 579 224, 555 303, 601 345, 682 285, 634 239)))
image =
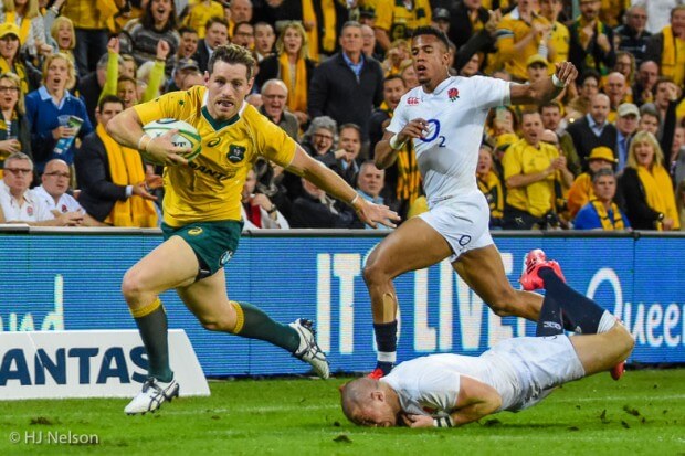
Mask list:
POLYGON ((491 415, 502 406, 502 396, 493 386, 474 378, 460 375, 460 392, 449 418, 428 415, 402 415, 409 427, 457 427, 491 415))

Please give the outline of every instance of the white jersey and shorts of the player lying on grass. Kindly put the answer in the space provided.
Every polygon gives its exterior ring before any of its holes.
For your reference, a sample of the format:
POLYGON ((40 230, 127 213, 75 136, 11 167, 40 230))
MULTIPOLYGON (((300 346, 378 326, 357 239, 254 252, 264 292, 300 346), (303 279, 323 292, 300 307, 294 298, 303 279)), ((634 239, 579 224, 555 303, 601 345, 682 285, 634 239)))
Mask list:
POLYGON ((479 357, 441 353, 405 361, 380 381, 398 393, 404 412, 444 416, 455 410, 463 375, 494 388, 502 396, 499 411, 516 412, 584 371, 568 337, 521 337, 479 357))

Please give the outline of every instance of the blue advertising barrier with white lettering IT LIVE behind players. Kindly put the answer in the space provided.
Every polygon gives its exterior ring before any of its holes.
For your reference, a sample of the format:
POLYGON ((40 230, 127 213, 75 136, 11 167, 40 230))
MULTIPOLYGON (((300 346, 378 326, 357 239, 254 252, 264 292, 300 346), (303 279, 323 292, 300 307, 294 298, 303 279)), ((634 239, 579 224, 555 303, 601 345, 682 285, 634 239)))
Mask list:
MULTIPOLYGON (((120 280, 160 236, 104 233, 0 233, 0 329, 134 329, 120 280)), ((283 322, 315 319, 334 371, 370 370, 376 354, 361 271, 379 240, 368 232, 246 235, 226 269, 229 296, 283 322)), ((637 342, 632 361, 685 362, 685 237, 498 233, 495 241, 512 284, 529 250, 541 247, 558 259, 571 286, 626 322, 637 342)), ((504 338, 534 332, 524 320, 496 317, 447 262, 396 284, 400 361, 438 351, 477 354, 504 338)), ((162 301, 169 327, 188 332, 208 375, 307 371, 265 342, 205 331, 175 293, 162 295, 162 301)))

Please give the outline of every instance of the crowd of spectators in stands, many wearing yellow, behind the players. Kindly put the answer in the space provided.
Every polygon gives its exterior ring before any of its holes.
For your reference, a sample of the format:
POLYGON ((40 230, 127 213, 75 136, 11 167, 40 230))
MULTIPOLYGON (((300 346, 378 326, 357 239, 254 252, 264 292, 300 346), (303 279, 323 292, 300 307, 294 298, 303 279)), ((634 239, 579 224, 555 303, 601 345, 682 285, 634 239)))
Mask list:
MULTIPOLYGON (((678 0, 0 0, 0 222, 159 224, 164 170, 105 126, 203 84, 217 46, 252 50, 247 103, 359 194, 426 210, 411 142, 373 149, 419 85, 410 36, 447 35, 454 76, 529 83, 570 61, 544 106, 492 109, 476 178, 491 227, 681 230, 685 4, 678 0)), ((245 229, 365 229, 310 182, 257 160, 245 229)), ((369 227, 369 226, 366 226, 369 227)))

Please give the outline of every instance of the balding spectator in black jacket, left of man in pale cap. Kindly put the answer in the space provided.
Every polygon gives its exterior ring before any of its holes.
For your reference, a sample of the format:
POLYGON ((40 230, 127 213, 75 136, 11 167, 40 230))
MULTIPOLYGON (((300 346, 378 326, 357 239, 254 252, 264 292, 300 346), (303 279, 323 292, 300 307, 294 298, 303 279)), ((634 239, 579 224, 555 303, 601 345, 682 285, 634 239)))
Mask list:
MULTIPOLYGON (((567 131, 573 138, 573 146, 578 157, 583 163, 583 170, 588 170, 586 158, 592 149, 599 146, 613 149, 616 146, 616 127, 608 121, 609 97, 597 94, 592 97, 590 113, 568 126, 567 131)), ((614 156, 615 158, 615 156, 614 156)))

